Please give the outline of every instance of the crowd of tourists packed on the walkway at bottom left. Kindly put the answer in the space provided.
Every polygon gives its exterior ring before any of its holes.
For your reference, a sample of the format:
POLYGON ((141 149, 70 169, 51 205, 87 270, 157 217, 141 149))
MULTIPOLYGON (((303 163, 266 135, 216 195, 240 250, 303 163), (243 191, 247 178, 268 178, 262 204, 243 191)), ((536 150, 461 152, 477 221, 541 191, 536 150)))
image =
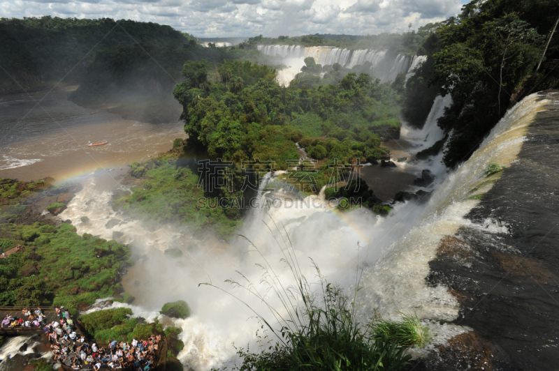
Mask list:
POLYGON ((43 331, 50 342, 50 348, 58 360, 73 370, 122 369, 149 371, 156 361, 157 349, 161 335, 152 335, 147 340, 131 342, 111 341, 108 346, 89 345, 87 339, 76 333, 70 312, 64 307, 55 306, 57 321, 45 324, 45 315, 41 308, 31 312, 23 308, 22 317, 14 319, 6 316, 2 327, 43 326, 43 331))

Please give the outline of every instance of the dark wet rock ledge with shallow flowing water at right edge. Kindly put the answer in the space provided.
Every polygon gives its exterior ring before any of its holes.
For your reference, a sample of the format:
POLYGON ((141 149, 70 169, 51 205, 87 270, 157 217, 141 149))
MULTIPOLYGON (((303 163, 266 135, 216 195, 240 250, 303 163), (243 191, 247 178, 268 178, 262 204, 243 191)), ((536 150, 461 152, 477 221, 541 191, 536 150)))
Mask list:
POLYGON ((518 158, 441 241, 429 262, 430 287, 460 304, 453 324, 472 328, 439 347, 419 370, 556 370, 559 289, 559 96, 537 112, 518 158), (488 220, 500 229, 487 229, 488 220), (456 339, 458 338, 458 339, 456 339))

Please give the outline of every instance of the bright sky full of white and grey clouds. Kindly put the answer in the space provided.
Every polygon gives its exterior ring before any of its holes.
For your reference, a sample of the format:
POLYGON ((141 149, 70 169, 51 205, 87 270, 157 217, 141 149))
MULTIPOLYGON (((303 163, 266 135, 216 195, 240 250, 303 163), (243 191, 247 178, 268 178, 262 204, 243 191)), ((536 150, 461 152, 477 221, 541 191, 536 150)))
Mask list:
POLYGON ((466 0, 0 0, 0 17, 85 17, 169 24, 198 37, 407 31, 466 0))

